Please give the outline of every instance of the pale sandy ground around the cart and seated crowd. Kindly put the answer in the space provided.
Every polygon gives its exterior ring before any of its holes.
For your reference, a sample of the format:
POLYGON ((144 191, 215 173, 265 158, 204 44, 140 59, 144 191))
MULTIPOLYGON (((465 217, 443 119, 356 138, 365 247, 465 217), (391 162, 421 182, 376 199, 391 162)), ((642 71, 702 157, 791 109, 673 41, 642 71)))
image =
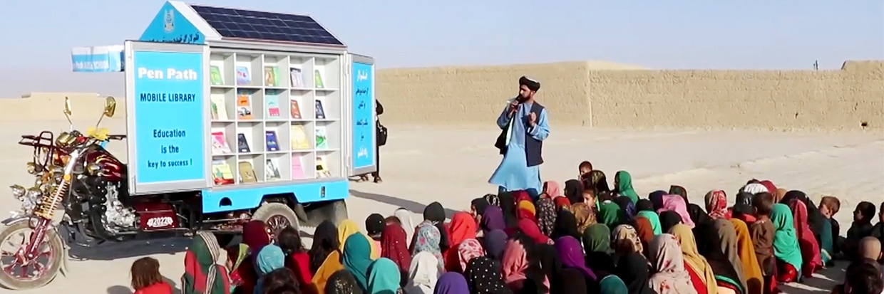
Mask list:
MULTIPOLYGON (((4 150, 0 163, 7 167, 0 186, 32 180, 23 169, 30 150, 15 142, 22 132, 35 133, 41 128, 57 131, 66 128, 66 122, 0 123, 0 138, 5 138, 0 141, 0 150, 4 150)), ((111 125, 111 130, 121 131, 122 125, 111 125)), ((397 207, 415 211, 416 221, 423 207, 432 201, 450 208, 450 214, 468 208, 469 200, 496 191, 487 184, 500 160, 493 148, 497 136, 493 125, 392 126, 390 131, 390 144, 381 148, 385 182, 351 185, 353 197, 347 204, 356 222, 361 223, 374 212, 392 214, 397 207)), ((111 150, 119 152, 123 148, 111 150)), ((577 163, 591 160, 608 177, 617 170, 629 170, 640 194, 678 184, 688 189, 694 202, 702 201, 711 189, 723 189, 732 196, 752 177, 803 190, 814 200, 835 195, 842 200, 842 212, 836 218, 844 231, 859 201, 880 203, 884 194, 882 133, 633 132, 559 127, 553 128, 544 151, 542 176, 560 183, 575 177, 577 163)), ((11 197, 0 197, 0 211, 17 206, 11 197)), ((310 241, 305 242, 309 245, 310 241)), ((161 271, 178 287, 183 272, 182 251, 187 243, 185 239, 166 239, 78 249, 76 253, 85 260, 71 260, 69 275, 26 292, 131 293, 127 286, 129 266, 147 255, 160 260, 161 271)), ((785 285, 783 289, 789 293, 828 292, 834 281, 842 279, 843 266, 842 262, 807 284, 785 285)))

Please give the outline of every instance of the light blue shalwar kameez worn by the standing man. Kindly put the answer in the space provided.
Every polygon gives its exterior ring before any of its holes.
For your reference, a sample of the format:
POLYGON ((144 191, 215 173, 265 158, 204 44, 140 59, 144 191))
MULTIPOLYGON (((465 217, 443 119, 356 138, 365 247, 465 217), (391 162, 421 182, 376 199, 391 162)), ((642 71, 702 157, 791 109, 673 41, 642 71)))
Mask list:
POLYGON ((503 156, 497 170, 488 183, 498 185, 502 191, 518 191, 534 189, 534 192, 540 192, 540 165, 528 166, 528 158, 525 155, 525 136, 531 136, 537 140, 544 140, 549 136, 549 121, 547 120, 546 109, 540 111, 536 124, 531 127, 528 124, 528 117, 533 103, 522 103, 514 114, 513 123, 509 124, 510 117, 507 117, 509 105, 503 110, 498 117, 498 126, 504 129, 509 125, 510 131, 507 132, 507 154, 503 156))

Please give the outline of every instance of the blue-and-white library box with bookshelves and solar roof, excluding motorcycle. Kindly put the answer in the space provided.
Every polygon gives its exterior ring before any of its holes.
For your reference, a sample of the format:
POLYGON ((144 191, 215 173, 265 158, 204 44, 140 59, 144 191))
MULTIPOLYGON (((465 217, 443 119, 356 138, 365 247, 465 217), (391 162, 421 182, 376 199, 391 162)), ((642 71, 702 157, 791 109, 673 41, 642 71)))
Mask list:
POLYGON ((170 1, 125 64, 130 194, 339 220, 347 177, 376 169, 373 60, 309 16, 170 1))

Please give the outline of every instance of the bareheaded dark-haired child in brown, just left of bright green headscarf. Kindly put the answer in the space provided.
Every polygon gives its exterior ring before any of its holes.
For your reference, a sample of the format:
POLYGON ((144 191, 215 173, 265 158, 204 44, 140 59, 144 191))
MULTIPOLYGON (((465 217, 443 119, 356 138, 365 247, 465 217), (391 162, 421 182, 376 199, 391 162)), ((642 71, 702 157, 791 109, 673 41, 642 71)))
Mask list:
POLYGON ((751 200, 755 209, 755 222, 749 227, 752 245, 755 245, 755 256, 761 275, 764 276, 765 292, 775 293, 776 290, 776 259, 773 257, 773 222, 770 215, 773 209, 773 196, 770 193, 758 193, 751 200))

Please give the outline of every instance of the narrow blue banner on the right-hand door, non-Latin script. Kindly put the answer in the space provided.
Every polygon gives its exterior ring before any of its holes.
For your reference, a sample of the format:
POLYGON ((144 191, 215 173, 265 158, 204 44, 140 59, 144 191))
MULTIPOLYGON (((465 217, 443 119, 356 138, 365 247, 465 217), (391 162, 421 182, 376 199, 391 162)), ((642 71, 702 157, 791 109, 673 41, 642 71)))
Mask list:
POLYGON ((353 62, 353 168, 375 164, 374 65, 353 62))

